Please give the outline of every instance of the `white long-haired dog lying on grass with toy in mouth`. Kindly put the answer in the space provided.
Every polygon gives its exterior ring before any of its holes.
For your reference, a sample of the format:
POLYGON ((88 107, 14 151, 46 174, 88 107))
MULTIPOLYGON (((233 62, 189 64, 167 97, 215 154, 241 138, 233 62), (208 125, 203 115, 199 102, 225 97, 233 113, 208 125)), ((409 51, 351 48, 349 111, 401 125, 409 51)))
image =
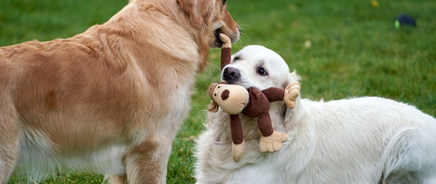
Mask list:
MULTIPOLYGON (((258 45, 233 55, 222 77, 261 90, 300 79, 258 45)), ((239 163, 227 114, 209 112, 196 144, 197 183, 436 183, 436 119, 413 106, 377 97, 298 98, 293 109, 274 102, 269 112, 289 139, 279 152, 260 152, 255 119, 240 114, 246 147, 239 163)))

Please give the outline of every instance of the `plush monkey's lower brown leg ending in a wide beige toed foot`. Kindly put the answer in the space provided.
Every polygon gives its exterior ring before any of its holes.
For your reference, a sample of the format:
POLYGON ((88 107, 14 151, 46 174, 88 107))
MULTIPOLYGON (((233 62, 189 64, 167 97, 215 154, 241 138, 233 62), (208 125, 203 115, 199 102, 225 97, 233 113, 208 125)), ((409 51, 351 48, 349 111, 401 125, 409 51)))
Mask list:
POLYGON ((275 152, 282 148, 282 143, 288 140, 286 133, 280 133, 272 128, 269 113, 257 117, 257 126, 261 130, 262 136, 259 142, 261 152, 275 152))

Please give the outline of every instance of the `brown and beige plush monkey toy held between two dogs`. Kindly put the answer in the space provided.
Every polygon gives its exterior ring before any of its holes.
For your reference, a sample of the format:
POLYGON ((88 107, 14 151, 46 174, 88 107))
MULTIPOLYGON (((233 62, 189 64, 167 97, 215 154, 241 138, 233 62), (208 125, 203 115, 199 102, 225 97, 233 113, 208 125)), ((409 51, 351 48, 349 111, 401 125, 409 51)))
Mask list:
MULTIPOLYGON (((224 42, 221 51, 221 70, 227 65, 231 57, 230 38, 220 34, 224 42)), ((242 135, 241 120, 239 113, 257 118, 257 125, 262 133, 259 148, 261 152, 275 152, 282 148, 282 143, 288 139, 288 135, 280 133, 272 128, 269 116, 269 103, 284 101, 289 108, 295 106, 296 98, 300 93, 300 85, 297 81, 289 84, 285 89, 270 87, 259 90, 254 87, 245 89, 240 85, 226 84, 225 81, 212 83, 208 94, 212 102, 208 107, 211 112, 218 111, 221 107, 224 112, 230 114, 230 129, 232 135, 232 157, 234 162, 239 162, 244 154, 245 142, 242 135)))

